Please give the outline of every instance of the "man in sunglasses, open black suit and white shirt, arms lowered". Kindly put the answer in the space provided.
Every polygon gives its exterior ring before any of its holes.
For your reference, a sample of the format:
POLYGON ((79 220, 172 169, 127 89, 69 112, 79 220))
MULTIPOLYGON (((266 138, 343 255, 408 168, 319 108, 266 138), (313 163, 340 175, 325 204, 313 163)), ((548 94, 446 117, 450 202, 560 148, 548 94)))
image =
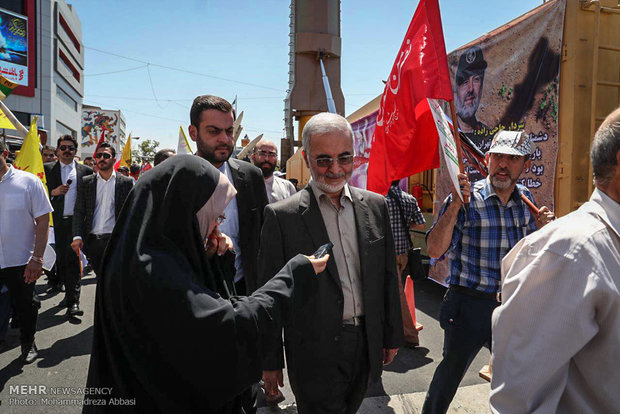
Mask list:
POLYGON ((73 214, 73 242, 78 254, 84 248, 95 274, 101 274, 101 258, 133 180, 114 171, 116 150, 107 142, 99 146, 95 159, 99 171, 84 177, 78 189, 73 214))

